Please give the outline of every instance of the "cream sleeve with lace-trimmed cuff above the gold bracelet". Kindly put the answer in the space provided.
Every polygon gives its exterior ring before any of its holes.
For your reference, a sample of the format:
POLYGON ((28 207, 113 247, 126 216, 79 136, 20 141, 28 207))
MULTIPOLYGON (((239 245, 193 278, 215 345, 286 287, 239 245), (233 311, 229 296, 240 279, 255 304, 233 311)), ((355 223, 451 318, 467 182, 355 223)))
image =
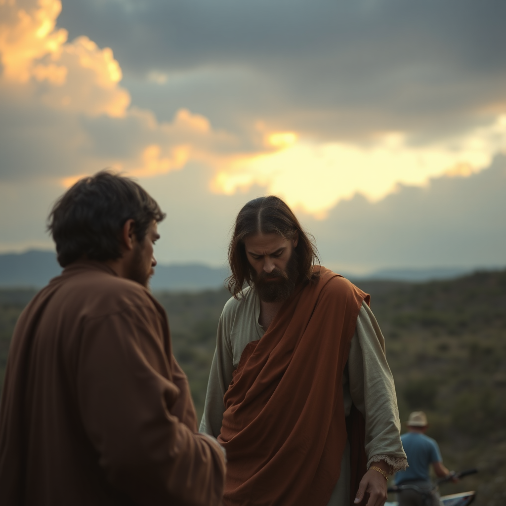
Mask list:
POLYGON ((371 462, 386 460, 393 472, 405 469, 399 412, 385 339, 367 304, 360 309, 348 358, 350 394, 365 418, 365 453, 371 462))

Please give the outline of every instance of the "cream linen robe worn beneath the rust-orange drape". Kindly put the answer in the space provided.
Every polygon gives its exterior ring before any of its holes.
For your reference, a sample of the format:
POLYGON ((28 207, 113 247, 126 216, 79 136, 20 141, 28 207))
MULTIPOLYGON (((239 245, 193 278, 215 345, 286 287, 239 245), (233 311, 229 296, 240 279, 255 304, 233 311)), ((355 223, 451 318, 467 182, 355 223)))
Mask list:
MULTIPOLYGON (((223 397, 232 381, 245 346, 262 338, 265 329, 258 322, 260 300, 254 290, 244 290, 244 299, 231 298, 218 324, 216 351, 209 373, 200 432, 218 437, 225 406, 223 397)), ((345 413, 352 403, 365 418, 367 467, 386 460, 393 472, 405 469, 406 455, 400 438, 400 422, 394 378, 385 356, 385 339, 371 310, 360 309, 350 355, 343 374, 345 413)), ((341 461, 341 476, 327 506, 350 503, 350 445, 341 461)))

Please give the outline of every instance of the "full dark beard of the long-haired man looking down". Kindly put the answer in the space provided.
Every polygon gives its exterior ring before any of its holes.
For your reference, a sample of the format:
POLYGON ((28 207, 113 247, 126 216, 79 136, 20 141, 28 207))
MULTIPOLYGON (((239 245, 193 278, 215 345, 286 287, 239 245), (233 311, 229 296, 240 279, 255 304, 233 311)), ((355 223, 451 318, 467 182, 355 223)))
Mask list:
POLYGON ((292 251, 284 272, 274 269, 269 273, 263 272, 262 274, 257 274, 253 271, 251 277, 251 287, 258 293, 261 301, 286 301, 293 293, 299 278, 299 259, 296 251, 292 251))

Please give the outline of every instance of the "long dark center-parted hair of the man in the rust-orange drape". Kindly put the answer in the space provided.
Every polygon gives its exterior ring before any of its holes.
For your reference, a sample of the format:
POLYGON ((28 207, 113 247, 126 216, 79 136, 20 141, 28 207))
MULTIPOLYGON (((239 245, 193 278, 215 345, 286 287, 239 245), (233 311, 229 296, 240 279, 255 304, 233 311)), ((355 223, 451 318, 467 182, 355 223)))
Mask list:
POLYGON ((254 271, 244 248, 244 238, 252 234, 275 233, 292 239, 297 233, 299 241, 294 248, 298 260, 297 282, 312 282, 318 278, 313 266, 320 264, 314 237, 304 232, 292 210, 279 197, 273 195, 250 200, 239 211, 228 248, 228 261, 232 274, 225 280, 230 293, 237 299, 244 283, 251 285, 254 271))

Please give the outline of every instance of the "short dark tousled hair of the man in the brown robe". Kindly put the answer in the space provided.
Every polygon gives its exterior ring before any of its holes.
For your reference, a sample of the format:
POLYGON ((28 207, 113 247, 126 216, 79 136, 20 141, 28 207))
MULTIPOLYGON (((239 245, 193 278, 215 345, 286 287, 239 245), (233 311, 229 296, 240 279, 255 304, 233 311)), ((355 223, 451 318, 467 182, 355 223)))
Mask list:
POLYGON ((58 263, 65 267, 80 258, 120 258, 120 235, 127 220, 134 220, 135 236, 142 241, 150 224, 164 218, 156 201, 135 181, 101 171, 80 179, 56 201, 48 231, 58 263))

